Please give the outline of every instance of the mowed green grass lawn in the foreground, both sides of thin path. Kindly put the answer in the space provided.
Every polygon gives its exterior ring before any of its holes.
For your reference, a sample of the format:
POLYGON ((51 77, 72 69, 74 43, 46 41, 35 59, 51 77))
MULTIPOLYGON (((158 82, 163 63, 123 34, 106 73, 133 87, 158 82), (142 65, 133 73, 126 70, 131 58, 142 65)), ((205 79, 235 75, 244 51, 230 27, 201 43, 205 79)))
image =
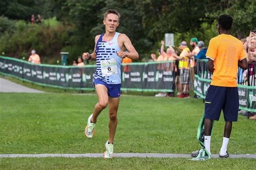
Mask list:
MULTIPOLYGON (((96 95, 0 93, 0 154, 103 153, 108 138, 108 108, 86 139, 84 127, 96 95)), ((114 152, 190 154, 199 148, 197 128, 202 100, 127 96, 120 99, 114 152)), ((239 115, 233 123, 230 154, 256 154, 255 121, 239 115)), ((215 122, 211 152, 218 154, 224 119, 215 122)), ((0 168, 255 168, 255 159, 2 158, 0 168), (214 166, 213 166, 214 165, 214 166), (227 167, 227 165, 231 167, 227 167)))

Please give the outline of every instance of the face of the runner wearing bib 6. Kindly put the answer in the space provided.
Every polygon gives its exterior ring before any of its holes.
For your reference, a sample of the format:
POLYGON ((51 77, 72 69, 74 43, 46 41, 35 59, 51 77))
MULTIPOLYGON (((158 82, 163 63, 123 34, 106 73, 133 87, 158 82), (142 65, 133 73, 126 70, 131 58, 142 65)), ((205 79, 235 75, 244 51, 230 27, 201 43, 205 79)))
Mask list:
POLYGON ((117 26, 119 25, 119 18, 117 15, 110 13, 106 16, 106 19, 103 20, 103 23, 107 31, 114 32, 116 31, 117 26))

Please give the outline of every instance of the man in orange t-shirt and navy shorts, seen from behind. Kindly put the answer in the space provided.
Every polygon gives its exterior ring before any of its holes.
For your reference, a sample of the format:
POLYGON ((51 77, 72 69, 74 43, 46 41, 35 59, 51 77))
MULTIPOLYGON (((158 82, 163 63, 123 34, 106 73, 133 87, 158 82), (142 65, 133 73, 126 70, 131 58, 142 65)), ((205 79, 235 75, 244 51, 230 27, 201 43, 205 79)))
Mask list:
POLYGON ((242 42, 231 36, 233 18, 221 15, 218 18, 219 36, 211 39, 206 58, 208 70, 213 73, 212 82, 205 98, 204 145, 209 154, 212 122, 218 121, 223 110, 225 130, 219 157, 229 157, 227 144, 232 130, 232 122, 237 122, 239 98, 237 89, 238 66, 247 69, 247 60, 242 42))

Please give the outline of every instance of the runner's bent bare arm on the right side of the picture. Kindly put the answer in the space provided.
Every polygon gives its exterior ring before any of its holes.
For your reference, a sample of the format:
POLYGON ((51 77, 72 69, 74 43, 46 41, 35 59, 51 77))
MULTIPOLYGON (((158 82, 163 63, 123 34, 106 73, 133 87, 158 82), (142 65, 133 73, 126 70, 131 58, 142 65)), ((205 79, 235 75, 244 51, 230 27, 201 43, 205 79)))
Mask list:
POLYGON ((120 34, 120 41, 125 46, 128 52, 119 51, 117 52, 117 55, 120 56, 120 58, 129 57, 134 60, 139 59, 139 54, 137 53, 136 49, 133 47, 131 40, 125 35, 120 34))

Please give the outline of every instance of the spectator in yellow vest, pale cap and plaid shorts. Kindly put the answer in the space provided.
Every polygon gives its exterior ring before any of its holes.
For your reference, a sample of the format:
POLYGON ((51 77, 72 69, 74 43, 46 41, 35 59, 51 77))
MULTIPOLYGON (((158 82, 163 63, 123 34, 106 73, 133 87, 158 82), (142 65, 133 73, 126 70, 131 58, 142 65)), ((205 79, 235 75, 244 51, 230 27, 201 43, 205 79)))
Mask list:
POLYGON ((180 69, 180 82, 183 85, 183 92, 182 89, 179 89, 179 93, 177 97, 190 97, 190 93, 188 92, 188 84, 190 80, 190 49, 187 47, 187 42, 182 41, 179 44, 179 48, 182 50, 180 53, 180 60, 179 60, 179 69, 180 69))

